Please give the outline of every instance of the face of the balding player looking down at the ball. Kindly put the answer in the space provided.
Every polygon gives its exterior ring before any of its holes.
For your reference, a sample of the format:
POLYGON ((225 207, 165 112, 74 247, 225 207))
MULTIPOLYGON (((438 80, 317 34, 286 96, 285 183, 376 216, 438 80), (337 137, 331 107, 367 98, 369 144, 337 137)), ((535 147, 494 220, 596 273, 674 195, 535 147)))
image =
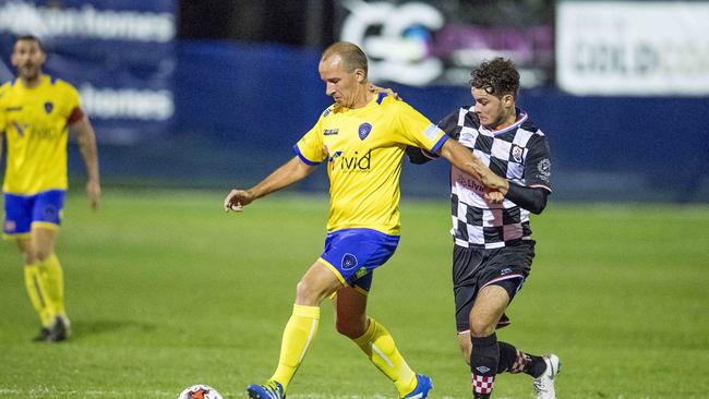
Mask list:
POLYGON ((317 72, 325 82, 325 94, 333 97, 337 105, 352 108, 358 99, 363 71, 347 72, 341 57, 334 55, 320 62, 317 72))

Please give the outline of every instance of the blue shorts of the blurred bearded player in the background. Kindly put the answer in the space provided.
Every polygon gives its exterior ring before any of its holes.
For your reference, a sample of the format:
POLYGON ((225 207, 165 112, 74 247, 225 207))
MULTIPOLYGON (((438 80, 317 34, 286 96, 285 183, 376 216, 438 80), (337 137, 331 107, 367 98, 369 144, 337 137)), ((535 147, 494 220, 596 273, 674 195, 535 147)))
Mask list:
POLYGON ((5 193, 2 232, 5 237, 13 238, 28 235, 33 226, 59 229, 64 194, 63 190, 50 190, 34 195, 5 193))

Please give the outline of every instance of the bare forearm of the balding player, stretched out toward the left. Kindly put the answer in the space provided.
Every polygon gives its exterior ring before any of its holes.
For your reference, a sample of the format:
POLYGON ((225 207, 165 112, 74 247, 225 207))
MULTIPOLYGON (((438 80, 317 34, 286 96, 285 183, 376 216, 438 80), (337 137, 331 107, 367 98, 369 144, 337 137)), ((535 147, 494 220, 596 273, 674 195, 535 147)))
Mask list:
POLYGON ((293 157, 253 188, 248 190, 231 190, 224 200, 224 210, 241 210, 242 207, 251 204, 255 200, 285 189, 305 178, 314 169, 314 167, 305 165, 298 157, 293 157))

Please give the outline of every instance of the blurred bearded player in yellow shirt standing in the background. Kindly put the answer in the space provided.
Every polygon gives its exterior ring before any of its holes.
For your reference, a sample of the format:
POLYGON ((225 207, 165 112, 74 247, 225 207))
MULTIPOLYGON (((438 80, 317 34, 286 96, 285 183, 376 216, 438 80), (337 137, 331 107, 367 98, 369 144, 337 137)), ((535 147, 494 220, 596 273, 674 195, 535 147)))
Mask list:
POLYGON ((47 56, 34 36, 17 38, 11 61, 17 78, 0 86, 0 158, 8 157, 2 185, 3 238, 14 240, 25 261, 25 286, 39 314, 37 341, 69 337, 64 281, 55 242, 67 191, 67 136, 71 128, 88 171, 86 192, 100 201, 96 137, 69 83, 41 73, 47 56))

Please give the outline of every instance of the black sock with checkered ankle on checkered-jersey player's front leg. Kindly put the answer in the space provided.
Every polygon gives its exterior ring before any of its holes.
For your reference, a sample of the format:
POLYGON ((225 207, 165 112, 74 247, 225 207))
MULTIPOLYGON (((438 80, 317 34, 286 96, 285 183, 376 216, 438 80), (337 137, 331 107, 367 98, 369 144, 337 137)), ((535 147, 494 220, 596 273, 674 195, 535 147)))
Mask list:
POLYGON ((470 351, 472 397, 476 399, 490 398, 500 362, 497 336, 494 332, 482 338, 471 336, 470 341, 472 342, 470 351))

